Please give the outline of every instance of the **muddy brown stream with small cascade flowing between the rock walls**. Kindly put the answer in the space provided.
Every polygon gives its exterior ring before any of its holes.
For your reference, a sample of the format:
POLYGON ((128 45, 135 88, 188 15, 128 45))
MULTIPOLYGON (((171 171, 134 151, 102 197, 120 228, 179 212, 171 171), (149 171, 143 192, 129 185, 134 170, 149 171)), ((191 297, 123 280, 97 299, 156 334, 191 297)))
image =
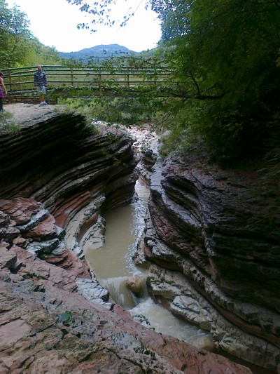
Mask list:
POLYGON ((174 316, 160 303, 156 303, 147 290, 139 298, 126 286, 127 277, 137 275, 143 279, 146 289, 147 270, 137 267, 132 255, 144 229, 149 189, 137 181, 135 192, 138 197, 129 206, 104 214, 104 245, 98 249, 88 248, 85 257, 99 283, 109 290, 114 302, 134 314, 144 315, 156 331, 197 345, 200 338, 208 335, 205 331, 174 316))

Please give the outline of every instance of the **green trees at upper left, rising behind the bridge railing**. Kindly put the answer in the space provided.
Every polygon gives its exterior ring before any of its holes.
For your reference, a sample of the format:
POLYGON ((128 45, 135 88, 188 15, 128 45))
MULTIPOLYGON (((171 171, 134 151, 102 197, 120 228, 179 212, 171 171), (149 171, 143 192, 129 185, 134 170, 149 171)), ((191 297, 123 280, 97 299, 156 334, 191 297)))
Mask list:
POLYGON ((8 8, 5 0, 0 0, 0 68, 48 65, 57 62, 59 56, 55 48, 43 46, 29 30, 27 15, 14 6, 8 8))

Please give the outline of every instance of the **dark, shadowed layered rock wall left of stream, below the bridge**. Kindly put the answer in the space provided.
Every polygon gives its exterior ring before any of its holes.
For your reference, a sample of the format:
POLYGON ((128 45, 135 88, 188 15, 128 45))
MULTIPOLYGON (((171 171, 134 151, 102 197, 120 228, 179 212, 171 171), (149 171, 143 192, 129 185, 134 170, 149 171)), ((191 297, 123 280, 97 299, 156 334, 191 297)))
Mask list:
POLYGON ((137 160, 125 133, 109 134, 99 128, 93 134, 80 114, 21 107, 11 119, 20 122, 20 133, 0 135, 2 198, 41 201, 62 226, 66 224, 63 211, 85 206, 96 194, 106 195, 112 208, 130 201, 137 160))

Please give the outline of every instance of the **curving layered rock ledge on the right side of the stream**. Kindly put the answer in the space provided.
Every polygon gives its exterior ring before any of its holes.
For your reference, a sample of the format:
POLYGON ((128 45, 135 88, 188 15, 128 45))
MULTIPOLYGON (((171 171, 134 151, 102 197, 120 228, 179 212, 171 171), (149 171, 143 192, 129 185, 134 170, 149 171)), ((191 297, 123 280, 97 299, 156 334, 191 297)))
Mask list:
POLYGON ((273 201, 255 195, 256 180, 197 156, 159 161, 136 262, 152 264, 153 294, 209 330, 219 349, 276 372, 280 227, 260 219, 273 201))

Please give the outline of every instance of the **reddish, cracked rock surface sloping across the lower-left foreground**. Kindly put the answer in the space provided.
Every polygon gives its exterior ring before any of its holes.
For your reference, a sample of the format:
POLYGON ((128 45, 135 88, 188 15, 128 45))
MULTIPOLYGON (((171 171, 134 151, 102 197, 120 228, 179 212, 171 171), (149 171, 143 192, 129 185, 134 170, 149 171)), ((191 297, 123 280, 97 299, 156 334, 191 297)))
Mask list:
MULTIPOLYGON (((28 199, 0 204, 10 218, 16 211, 18 222, 40 216, 40 206, 28 199), (28 216, 31 206, 35 215, 28 216)), ((17 227, 13 220, 8 223, 17 227)), ((7 220, 1 227, 8 232, 7 220)), ((43 243, 50 232, 55 234, 55 225, 48 215, 24 234, 30 245, 38 233, 43 243)), ((1 373, 250 373, 145 328, 121 307, 111 312, 85 300, 77 293, 76 279, 89 274, 76 255, 66 250, 46 262, 21 247, 21 238, 18 232, 13 241, 0 242, 1 373)))

